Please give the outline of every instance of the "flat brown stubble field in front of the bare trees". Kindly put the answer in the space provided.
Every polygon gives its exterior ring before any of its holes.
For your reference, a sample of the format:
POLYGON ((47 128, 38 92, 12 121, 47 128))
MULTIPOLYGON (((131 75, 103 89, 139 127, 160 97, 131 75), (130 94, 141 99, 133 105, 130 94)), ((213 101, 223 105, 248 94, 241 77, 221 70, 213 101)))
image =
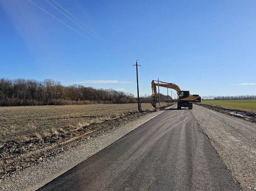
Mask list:
MULTIPOLYGON (((164 106, 166 103, 162 103, 164 106)), ((137 104, 0 107, 0 145, 8 140, 54 133, 59 128, 82 127, 137 111, 137 104)), ((142 104, 143 110, 153 110, 142 104)), ((21 140, 22 141, 22 140, 21 140)))

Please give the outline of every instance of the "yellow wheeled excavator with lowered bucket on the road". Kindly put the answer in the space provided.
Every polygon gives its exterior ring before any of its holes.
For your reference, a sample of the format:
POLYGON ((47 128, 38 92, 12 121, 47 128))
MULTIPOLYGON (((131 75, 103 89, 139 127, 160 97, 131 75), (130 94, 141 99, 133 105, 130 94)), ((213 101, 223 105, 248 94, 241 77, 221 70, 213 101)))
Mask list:
POLYGON ((201 97, 199 95, 190 95, 189 91, 182 91, 178 85, 174 83, 167 83, 167 82, 158 82, 156 80, 152 80, 151 87, 153 93, 153 99, 151 104, 154 108, 156 108, 156 102, 158 101, 158 93, 156 91, 156 86, 160 87, 167 87, 176 90, 178 94, 178 104, 177 109, 181 109, 181 107, 188 107, 188 109, 193 109, 193 102, 201 102, 201 97))

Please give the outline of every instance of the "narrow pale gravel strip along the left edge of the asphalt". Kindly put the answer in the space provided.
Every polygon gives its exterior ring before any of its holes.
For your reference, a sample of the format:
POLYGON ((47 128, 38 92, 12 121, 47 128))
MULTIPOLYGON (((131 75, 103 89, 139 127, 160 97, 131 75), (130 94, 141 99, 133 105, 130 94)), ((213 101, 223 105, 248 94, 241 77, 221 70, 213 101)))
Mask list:
POLYGON ((72 142, 73 145, 69 145, 72 149, 64 150, 64 152, 59 153, 53 158, 42 161, 36 166, 28 167, 19 173, 13 174, 11 177, 0 179, 0 190, 35 190, 109 146, 143 123, 166 111, 168 108, 170 107, 161 111, 151 112, 137 120, 115 127, 109 131, 103 131, 90 140, 84 141, 79 139, 74 141, 72 142))

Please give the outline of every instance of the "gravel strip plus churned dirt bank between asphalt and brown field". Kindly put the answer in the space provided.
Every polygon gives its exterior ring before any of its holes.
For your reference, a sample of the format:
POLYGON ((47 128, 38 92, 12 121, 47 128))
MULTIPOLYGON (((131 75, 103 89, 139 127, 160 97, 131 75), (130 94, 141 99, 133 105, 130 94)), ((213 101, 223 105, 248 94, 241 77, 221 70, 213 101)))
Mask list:
MULTIPOLYGON (((12 167, 8 174, 3 175, 0 179, 0 190, 35 190, 165 110, 131 113, 132 116, 129 118, 123 116, 114 120, 106 120, 106 124, 99 123, 92 127, 89 125, 85 129, 81 128, 80 136, 69 138, 64 142, 49 142, 48 148, 23 153, 15 156, 15 160, 11 155, 5 156, 5 161, 2 160, 1 166, 7 166, 2 169, 10 168, 8 164, 19 166, 12 167)), ((36 145, 37 143, 31 142, 30 144, 36 145)), ((16 147, 15 144, 11 145, 16 147)), ((10 150, 14 150, 12 153, 15 155, 15 149, 8 148, 4 152, 10 150)))

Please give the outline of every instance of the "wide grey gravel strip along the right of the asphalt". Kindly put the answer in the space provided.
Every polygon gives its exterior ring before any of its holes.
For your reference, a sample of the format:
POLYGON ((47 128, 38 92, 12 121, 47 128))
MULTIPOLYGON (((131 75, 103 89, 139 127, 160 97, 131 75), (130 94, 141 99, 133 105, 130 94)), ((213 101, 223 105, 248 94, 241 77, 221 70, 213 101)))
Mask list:
POLYGON ((198 105, 191 112, 243 190, 256 190, 256 124, 198 105))

